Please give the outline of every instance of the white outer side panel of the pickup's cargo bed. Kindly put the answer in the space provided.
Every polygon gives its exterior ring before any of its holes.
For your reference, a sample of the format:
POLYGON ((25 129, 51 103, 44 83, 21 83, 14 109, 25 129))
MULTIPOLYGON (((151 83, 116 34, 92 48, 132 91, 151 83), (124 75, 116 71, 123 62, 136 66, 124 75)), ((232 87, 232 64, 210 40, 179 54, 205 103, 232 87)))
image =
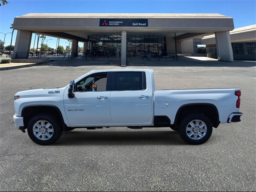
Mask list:
POLYGON ((177 111, 186 104, 213 104, 218 109, 220 123, 226 123, 232 112, 239 112, 236 108, 238 97, 234 94, 239 88, 223 89, 186 89, 186 90, 155 90, 155 116, 168 116, 171 124, 177 111))

